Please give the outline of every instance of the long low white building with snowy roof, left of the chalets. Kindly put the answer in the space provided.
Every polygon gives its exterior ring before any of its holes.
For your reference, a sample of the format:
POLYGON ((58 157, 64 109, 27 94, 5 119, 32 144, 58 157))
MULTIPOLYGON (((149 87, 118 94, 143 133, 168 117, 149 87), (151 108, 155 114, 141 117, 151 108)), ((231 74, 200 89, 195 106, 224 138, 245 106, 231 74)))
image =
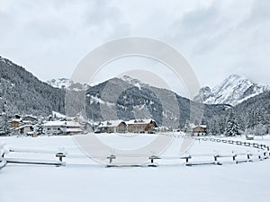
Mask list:
POLYGON ((47 136, 73 135, 82 133, 81 125, 75 121, 47 121, 43 124, 43 133, 47 136))

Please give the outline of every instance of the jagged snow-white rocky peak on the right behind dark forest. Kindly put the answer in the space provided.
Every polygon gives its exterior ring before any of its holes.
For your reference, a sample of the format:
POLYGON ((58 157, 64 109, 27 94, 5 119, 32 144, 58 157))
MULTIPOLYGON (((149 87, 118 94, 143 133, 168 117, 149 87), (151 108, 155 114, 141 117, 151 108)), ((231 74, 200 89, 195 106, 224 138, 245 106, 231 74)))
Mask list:
POLYGON ((229 75, 222 83, 212 89, 208 86, 203 87, 193 100, 205 104, 235 106, 266 91, 269 91, 268 86, 258 85, 243 76, 229 75))

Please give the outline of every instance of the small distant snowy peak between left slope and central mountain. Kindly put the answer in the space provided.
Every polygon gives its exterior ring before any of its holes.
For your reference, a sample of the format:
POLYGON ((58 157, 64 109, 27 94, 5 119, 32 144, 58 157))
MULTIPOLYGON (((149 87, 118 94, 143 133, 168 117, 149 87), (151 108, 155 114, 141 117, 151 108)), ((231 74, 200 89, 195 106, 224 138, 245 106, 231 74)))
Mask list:
POLYGON ((86 91, 89 88, 88 84, 74 83, 67 78, 52 79, 47 81, 47 83, 52 87, 70 91, 86 91))

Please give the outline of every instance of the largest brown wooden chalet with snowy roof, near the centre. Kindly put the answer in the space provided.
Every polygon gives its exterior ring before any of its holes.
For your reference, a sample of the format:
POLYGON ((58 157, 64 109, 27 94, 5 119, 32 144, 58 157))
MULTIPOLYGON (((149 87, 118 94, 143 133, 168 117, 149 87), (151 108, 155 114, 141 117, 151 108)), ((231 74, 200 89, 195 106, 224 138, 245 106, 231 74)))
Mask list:
POLYGON ((126 122, 130 133, 152 133, 157 123, 152 119, 132 119, 126 122))

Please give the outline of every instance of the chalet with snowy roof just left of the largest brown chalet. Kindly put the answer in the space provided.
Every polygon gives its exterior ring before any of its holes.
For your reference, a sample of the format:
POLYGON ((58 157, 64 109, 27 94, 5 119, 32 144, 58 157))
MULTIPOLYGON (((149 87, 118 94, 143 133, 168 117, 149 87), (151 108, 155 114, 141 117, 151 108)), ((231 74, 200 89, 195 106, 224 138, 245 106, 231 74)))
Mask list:
POLYGON ((103 121, 99 129, 102 133, 125 133, 127 125, 122 120, 108 120, 103 121))

